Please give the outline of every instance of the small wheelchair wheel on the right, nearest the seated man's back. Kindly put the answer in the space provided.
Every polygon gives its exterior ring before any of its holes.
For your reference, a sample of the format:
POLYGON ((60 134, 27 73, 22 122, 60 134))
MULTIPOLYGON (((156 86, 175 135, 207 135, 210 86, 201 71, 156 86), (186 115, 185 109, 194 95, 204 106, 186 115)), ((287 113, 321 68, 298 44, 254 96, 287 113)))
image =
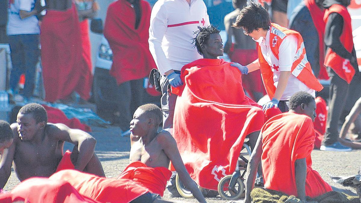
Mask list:
POLYGON ((234 188, 229 188, 232 175, 223 177, 218 183, 218 193, 223 199, 237 200, 244 195, 244 183, 241 178, 237 178, 234 188))

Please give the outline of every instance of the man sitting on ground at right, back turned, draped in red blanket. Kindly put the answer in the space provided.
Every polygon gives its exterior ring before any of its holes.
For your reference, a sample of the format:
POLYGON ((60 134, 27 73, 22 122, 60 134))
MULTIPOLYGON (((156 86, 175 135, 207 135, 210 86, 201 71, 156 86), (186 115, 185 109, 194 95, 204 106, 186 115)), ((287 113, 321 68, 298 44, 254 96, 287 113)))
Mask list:
POLYGON ((289 112, 274 116, 261 129, 247 166, 244 202, 251 202, 250 194, 260 161, 267 189, 295 195, 301 200, 329 191, 356 196, 349 190, 330 186, 312 169, 311 152, 315 140, 312 122, 316 117, 314 97, 299 91, 291 96, 289 105, 289 112))

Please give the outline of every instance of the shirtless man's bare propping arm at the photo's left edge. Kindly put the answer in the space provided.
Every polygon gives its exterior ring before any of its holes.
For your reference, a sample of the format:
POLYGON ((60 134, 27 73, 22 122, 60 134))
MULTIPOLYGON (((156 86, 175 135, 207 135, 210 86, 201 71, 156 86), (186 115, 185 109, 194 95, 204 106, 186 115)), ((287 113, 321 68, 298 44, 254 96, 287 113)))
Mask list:
POLYGON ((15 142, 16 137, 19 137, 17 131, 17 124, 12 124, 11 129, 14 134, 14 140, 11 146, 4 150, 3 154, 0 155, 0 189, 3 189, 8 182, 11 174, 11 165, 13 164, 15 154, 15 142))

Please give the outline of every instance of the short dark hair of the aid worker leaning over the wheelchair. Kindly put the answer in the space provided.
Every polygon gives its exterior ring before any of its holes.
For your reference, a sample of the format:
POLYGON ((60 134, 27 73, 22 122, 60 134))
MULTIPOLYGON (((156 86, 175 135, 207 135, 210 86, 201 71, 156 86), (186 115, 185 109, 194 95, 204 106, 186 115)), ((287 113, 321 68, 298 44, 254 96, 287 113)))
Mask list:
POLYGON ((238 14, 236 22, 232 25, 235 28, 243 28, 246 32, 251 33, 253 30, 263 28, 269 30, 271 26, 270 16, 261 4, 250 2, 238 14))

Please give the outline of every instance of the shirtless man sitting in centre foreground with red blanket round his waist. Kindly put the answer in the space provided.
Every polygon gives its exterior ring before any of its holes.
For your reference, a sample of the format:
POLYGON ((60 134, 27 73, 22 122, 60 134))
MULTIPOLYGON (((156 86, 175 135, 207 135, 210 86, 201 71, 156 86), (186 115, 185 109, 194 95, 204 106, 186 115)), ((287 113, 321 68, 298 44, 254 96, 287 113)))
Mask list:
POLYGON ((134 112, 130 122, 130 164, 118 179, 134 180, 152 193, 163 195, 166 182, 171 176, 167 169, 171 161, 184 186, 199 202, 206 202, 184 167, 172 135, 165 130, 158 132, 161 122, 162 111, 155 104, 142 105, 134 112))

